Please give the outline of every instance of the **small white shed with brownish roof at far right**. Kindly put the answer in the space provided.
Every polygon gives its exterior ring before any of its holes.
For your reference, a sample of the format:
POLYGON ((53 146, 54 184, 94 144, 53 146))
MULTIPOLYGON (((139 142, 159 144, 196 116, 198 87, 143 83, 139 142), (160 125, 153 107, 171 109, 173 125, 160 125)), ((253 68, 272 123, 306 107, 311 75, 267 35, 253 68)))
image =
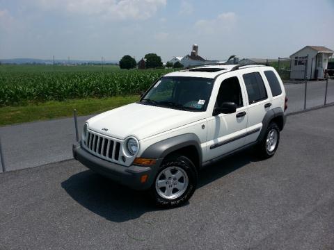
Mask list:
POLYGON ((307 78, 324 78, 324 71, 327 69, 328 58, 334 53, 333 50, 323 46, 305 46, 290 56, 291 72, 290 78, 303 79, 307 63, 307 78), (308 60, 306 62, 306 58, 308 60))

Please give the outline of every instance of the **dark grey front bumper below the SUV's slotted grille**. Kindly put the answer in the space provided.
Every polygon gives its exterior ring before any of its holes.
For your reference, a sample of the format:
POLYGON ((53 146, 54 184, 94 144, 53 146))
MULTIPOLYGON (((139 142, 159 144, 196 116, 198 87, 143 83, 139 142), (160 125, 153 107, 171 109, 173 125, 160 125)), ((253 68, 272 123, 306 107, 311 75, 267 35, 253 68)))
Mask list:
POLYGON ((73 144, 72 151, 74 159, 78 160, 89 169, 110 178, 116 183, 126 185, 136 190, 150 188, 161 163, 161 159, 158 159, 156 165, 150 165, 149 167, 138 165, 126 167, 93 156, 83 149, 80 144, 73 144), (141 183, 141 176, 144 174, 147 174, 148 178, 145 183, 141 183))

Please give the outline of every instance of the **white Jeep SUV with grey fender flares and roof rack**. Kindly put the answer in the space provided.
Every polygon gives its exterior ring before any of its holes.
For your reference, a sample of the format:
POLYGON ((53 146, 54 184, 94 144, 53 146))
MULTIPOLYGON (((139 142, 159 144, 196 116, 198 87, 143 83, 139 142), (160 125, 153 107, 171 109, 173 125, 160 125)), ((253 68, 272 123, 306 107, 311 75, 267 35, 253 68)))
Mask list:
POLYGON ((113 181, 150 190, 164 207, 187 201, 198 170, 256 146, 273 156, 285 125, 280 76, 262 65, 173 72, 140 101, 88 119, 74 158, 113 181))

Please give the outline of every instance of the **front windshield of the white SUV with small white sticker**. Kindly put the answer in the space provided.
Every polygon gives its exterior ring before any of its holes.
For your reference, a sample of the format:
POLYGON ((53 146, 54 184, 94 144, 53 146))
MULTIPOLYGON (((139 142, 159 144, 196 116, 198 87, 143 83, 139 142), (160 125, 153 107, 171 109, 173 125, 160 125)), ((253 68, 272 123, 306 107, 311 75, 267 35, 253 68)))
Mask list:
POLYGON ((214 79, 166 76, 155 83, 141 103, 188 111, 205 111, 214 79))

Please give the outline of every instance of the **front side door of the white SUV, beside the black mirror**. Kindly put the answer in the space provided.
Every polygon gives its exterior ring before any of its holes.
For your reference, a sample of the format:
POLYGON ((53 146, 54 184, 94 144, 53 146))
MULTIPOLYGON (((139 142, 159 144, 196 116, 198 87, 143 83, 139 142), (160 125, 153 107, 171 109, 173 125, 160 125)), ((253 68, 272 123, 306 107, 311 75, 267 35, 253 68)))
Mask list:
POLYGON ((215 107, 220 107, 224 102, 236 103, 237 111, 232 114, 215 115, 207 119, 207 159, 205 160, 211 160, 239 149, 245 143, 248 110, 239 76, 225 78, 221 82, 215 107))

